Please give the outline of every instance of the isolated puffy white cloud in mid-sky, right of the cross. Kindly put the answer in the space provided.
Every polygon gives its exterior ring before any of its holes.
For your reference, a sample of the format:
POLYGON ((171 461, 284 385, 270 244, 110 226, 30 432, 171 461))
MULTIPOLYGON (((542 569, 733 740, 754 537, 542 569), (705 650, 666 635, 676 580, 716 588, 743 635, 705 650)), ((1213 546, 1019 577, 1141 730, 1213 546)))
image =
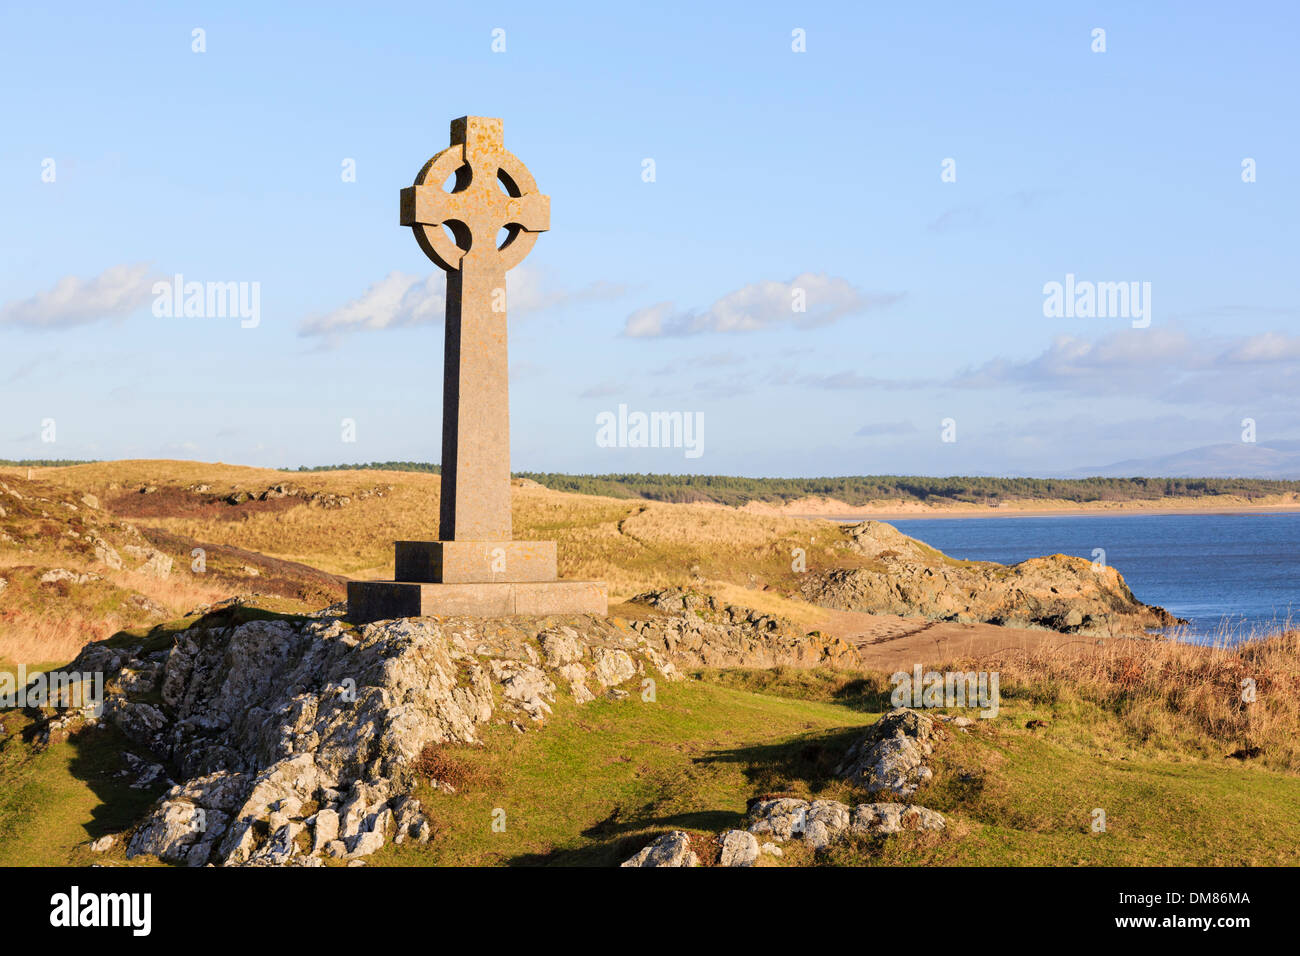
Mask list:
POLYGON ((755 332, 784 324, 811 328, 890 304, 900 298, 868 295, 845 278, 805 272, 789 282, 751 282, 723 295, 702 312, 679 312, 671 302, 646 306, 627 317, 623 334, 654 338, 703 332, 755 332))

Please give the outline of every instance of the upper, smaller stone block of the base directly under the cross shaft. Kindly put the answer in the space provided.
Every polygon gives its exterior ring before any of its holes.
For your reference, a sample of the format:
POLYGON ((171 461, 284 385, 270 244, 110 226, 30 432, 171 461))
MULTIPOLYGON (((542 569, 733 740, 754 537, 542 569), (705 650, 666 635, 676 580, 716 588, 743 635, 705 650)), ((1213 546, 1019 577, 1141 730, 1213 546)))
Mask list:
POLYGON ((554 541, 398 541, 396 580, 422 584, 554 581, 554 541))

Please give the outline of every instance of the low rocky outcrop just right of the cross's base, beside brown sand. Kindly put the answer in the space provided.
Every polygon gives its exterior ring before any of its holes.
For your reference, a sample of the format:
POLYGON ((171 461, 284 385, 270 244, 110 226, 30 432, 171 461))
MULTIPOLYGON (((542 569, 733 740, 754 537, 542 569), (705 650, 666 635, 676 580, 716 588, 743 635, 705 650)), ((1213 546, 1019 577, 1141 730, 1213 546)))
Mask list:
POLYGON ((664 611, 630 627, 681 667, 859 666, 857 650, 838 637, 803 633, 784 618, 724 605, 710 594, 664 588, 632 601, 664 611))

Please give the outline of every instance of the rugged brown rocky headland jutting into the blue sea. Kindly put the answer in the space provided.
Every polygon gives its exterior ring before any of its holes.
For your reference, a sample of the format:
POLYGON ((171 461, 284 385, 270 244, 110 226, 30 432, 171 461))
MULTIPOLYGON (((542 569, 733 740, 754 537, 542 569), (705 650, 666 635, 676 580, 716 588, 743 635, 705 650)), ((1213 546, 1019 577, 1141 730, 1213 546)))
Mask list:
POLYGON ((1084 558, 957 561, 881 522, 844 533, 864 563, 805 576, 802 596, 823 607, 1096 636, 1186 623, 1140 602, 1115 568, 1084 558))

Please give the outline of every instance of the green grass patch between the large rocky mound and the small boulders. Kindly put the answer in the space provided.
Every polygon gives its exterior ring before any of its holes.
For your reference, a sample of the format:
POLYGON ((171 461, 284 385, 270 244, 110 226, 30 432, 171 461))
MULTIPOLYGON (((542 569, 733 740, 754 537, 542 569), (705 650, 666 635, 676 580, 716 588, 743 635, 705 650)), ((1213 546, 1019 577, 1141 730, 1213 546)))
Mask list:
POLYGON ((455 795, 422 787, 434 840, 387 847, 374 862, 618 864, 654 834, 738 826, 757 793, 841 795, 828 757, 870 721, 698 682, 660 684, 656 702, 558 705, 541 731, 494 727, 485 748, 458 748, 477 782, 455 795), (498 808, 504 832, 493 831, 498 808))

